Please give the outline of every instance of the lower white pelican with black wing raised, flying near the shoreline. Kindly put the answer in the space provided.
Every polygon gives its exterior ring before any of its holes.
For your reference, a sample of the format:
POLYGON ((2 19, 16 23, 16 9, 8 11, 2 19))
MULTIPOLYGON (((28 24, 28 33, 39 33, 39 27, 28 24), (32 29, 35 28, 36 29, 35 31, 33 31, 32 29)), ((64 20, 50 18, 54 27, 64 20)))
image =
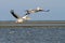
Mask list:
POLYGON ((18 16, 17 14, 14 13, 14 10, 11 10, 10 13, 17 19, 15 23, 23 23, 24 20, 30 19, 28 15, 25 15, 23 17, 18 16))

